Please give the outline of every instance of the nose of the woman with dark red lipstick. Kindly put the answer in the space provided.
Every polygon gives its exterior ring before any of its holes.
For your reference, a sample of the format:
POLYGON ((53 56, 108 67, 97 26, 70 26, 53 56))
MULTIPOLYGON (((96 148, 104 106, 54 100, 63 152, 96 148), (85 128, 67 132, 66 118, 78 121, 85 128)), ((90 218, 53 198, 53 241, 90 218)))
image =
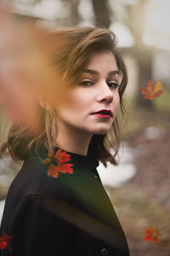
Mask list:
POLYGON ((99 102, 112 102, 113 101, 113 92, 111 91, 111 88, 106 82, 102 82, 98 87, 99 93, 97 96, 97 99, 99 102))

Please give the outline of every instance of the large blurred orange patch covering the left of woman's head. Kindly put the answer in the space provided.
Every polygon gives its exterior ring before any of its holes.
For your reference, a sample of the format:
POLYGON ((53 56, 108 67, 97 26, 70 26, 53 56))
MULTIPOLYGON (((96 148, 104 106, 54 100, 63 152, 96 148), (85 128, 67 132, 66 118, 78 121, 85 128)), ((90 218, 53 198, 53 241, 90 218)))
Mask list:
MULTIPOLYGON (((4 8, 3 8, 4 9, 4 8)), ((36 129, 39 99, 54 105, 61 83, 50 56, 61 46, 49 31, 0 9, 0 105, 13 123, 36 129)), ((10 9, 10 7, 9 7, 10 9)))

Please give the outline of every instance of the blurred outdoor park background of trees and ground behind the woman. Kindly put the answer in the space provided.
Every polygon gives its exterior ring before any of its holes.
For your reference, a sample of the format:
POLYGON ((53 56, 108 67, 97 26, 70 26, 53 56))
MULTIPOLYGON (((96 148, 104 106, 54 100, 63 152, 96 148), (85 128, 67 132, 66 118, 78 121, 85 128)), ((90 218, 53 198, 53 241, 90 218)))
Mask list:
MULTIPOLYGON (((2 0, 0 3, 3 2, 2 0)), ((127 64, 128 112, 120 165, 99 164, 99 175, 120 219, 131 256, 170 255, 170 2, 168 0, 15 0, 21 22, 55 30, 102 26, 116 33, 127 64), (164 93, 144 99, 140 87, 161 81, 164 93), (156 227, 159 241, 144 241, 156 227)), ((0 109, 1 111, 1 109, 0 109)), ((0 113, 0 136, 5 116, 0 113)), ((8 186, 20 166, 0 156, 0 219, 8 186)))

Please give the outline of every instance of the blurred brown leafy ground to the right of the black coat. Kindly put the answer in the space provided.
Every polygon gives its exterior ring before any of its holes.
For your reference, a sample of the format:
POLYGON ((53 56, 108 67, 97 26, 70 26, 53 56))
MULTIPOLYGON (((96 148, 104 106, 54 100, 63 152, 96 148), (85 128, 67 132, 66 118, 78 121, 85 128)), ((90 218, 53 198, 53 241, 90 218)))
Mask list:
POLYGON ((136 175, 120 188, 105 189, 122 223, 131 256, 169 256, 170 134, 164 130, 156 135, 153 128, 139 131, 128 145, 136 148, 136 175), (155 244, 143 241, 144 230, 150 226, 161 232, 155 244))

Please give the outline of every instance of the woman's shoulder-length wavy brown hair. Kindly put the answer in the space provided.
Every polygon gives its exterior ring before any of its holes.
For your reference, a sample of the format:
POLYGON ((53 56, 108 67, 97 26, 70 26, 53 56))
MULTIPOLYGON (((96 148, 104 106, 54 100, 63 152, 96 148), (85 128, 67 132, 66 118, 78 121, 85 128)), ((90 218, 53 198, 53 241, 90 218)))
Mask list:
MULTIPOLYGON (((127 70, 121 55, 116 50, 116 36, 113 32, 99 27, 69 27, 49 33, 49 38, 63 40, 65 44, 59 47, 50 55, 50 63, 57 67, 59 73, 70 84, 77 83, 83 69, 88 65, 88 61, 94 52, 103 49, 111 50, 116 58, 118 71, 121 75, 119 86, 120 107, 122 116, 125 116, 122 95, 127 86, 127 70)), ((41 127, 36 134, 31 133, 28 129, 20 125, 12 125, 8 132, 8 139, 3 143, 1 152, 4 153, 8 148, 8 153, 16 161, 26 160, 29 156, 38 154, 41 148, 47 150, 54 148, 57 137, 57 119, 59 113, 56 108, 38 107, 37 123, 41 127)), ((94 135, 88 147, 88 154, 94 155, 104 166, 106 161, 117 165, 116 154, 121 143, 122 131, 118 116, 111 126, 111 130, 104 135, 94 135), (113 148, 115 153, 110 153, 113 148)))

